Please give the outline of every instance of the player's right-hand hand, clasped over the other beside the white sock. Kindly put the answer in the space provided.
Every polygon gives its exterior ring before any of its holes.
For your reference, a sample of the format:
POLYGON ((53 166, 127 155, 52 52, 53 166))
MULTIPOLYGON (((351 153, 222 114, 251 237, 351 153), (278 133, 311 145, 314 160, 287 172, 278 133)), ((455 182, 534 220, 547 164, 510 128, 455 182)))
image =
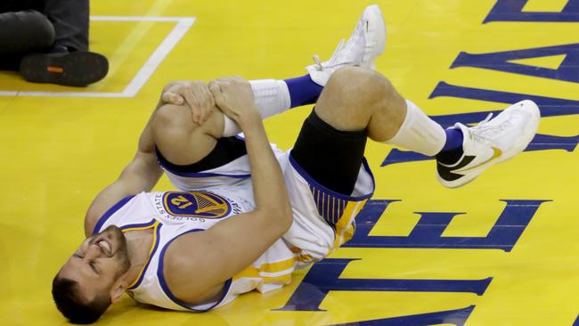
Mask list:
POLYGON ((256 100, 249 82, 241 77, 219 78, 209 82, 216 106, 241 128, 245 124, 261 121, 256 100))

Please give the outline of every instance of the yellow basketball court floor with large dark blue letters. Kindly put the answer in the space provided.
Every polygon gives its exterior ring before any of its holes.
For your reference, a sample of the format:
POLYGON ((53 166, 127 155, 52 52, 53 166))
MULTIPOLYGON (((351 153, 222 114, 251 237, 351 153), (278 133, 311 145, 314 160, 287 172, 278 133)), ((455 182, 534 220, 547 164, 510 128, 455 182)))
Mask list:
MULTIPOLYGON (((380 0, 378 70, 444 126, 531 98, 526 152, 448 190, 435 164, 370 143, 377 178, 355 238, 207 314, 125 297, 103 325, 579 325, 579 1, 380 0)), ((0 324, 58 325, 51 281, 94 196, 135 153, 173 79, 297 77, 329 58, 369 1, 98 0, 91 46, 110 74, 86 88, 0 72, 0 324)), ((290 148, 311 108, 266 122, 290 148)), ((156 190, 173 189, 163 178, 156 190)), ((194 276, 193 276, 194 277, 194 276)))

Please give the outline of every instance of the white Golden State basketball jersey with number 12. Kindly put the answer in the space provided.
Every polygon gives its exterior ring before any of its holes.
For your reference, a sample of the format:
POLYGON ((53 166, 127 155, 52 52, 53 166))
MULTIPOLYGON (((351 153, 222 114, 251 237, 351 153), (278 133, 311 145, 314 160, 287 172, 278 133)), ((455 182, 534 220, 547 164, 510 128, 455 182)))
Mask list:
POLYGON ((94 227, 94 234, 111 224, 123 232, 153 229, 148 262, 127 293, 144 304, 202 312, 223 306, 241 293, 253 289, 261 292, 279 289, 291 281, 296 259, 285 241, 277 240, 256 262, 225 282, 224 293, 216 302, 188 305, 168 289, 163 275, 163 258, 173 240, 184 233, 203 232, 230 216, 254 208, 249 180, 238 183, 234 192, 225 189, 218 192, 142 192, 110 208, 94 227))

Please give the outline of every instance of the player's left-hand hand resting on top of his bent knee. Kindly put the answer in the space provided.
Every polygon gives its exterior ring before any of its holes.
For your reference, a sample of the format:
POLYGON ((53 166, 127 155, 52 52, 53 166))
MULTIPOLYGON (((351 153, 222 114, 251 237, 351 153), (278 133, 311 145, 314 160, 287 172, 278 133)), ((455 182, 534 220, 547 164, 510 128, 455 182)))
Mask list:
POLYGON ((163 88, 161 102, 188 107, 192 112, 193 122, 200 125, 207 121, 216 106, 208 85, 201 81, 170 82, 163 88))

